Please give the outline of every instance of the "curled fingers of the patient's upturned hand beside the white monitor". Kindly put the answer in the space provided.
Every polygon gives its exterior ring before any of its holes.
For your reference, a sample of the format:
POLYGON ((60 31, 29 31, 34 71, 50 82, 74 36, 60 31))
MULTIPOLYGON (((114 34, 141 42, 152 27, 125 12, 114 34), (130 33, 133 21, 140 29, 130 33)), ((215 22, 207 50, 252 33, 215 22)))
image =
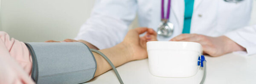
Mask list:
POLYGON ((143 36, 148 41, 157 41, 157 33, 153 29, 148 29, 147 33, 143 36))

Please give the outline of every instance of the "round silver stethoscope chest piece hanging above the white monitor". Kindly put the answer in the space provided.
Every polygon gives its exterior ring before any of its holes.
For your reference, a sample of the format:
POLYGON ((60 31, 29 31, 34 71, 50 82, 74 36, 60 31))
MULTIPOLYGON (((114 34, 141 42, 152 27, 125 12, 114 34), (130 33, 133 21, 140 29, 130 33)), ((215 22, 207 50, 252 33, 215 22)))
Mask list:
POLYGON ((170 37, 173 34, 174 24, 171 22, 161 22, 157 28, 157 34, 163 37, 170 37))

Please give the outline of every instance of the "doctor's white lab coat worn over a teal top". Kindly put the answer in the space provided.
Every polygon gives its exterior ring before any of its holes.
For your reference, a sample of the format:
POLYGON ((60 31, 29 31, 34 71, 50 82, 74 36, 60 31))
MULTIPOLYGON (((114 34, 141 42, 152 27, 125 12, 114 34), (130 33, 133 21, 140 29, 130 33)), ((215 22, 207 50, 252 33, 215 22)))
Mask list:
MULTIPOLYGON (((184 0, 172 0, 171 4, 169 21, 175 25, 174 34, 169 38, 158 36, 159 41, 169 41, 183 30, 184 0)), ((90 18, 75 39, 87 41, 99 49, 112 47, 123 40, 136 14, 140 27, 156 31, 161 19, 160 6, 161 0, 96 0, 90 18)), ((240 3, 195 0, 190 33, 225 35, 246 48, 247 55, 256 54, 256 26, 248 26, 251 9, 252 0, 240 3)))

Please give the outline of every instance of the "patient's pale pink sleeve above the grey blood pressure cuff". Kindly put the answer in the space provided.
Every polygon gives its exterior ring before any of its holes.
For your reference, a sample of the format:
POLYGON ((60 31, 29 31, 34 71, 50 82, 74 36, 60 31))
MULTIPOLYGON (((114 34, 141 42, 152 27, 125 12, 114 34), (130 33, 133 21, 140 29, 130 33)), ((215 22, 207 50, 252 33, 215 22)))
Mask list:
POLYGON ((34 84, 31 69, 31 55, 26 45, 0 31, 0 84, 34 84))

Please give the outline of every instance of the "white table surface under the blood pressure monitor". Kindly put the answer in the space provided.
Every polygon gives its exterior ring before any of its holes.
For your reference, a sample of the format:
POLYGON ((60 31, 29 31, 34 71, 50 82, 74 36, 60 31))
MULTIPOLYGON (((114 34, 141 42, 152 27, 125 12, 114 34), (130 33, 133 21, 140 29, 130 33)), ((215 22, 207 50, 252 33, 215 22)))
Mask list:
MULTIPOLYGON (((256 84, 256 55, 230 53, 220 57, 206 56, 207 76, 204 84, 256 84)), ((151 75, 148 59, 125 63, 116 68, 125 84, 199 84, 203 70, 187 78, 164 78, 151 75)), ((113 70, 86 84, 119 84, 113 70)))

